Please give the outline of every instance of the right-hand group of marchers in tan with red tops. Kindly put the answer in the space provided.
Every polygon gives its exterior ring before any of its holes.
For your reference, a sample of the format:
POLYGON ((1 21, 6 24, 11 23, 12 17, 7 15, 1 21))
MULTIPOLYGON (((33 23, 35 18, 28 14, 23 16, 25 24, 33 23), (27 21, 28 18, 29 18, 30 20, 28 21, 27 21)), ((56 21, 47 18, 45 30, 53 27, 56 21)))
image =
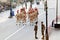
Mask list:
POLYGON ((30 23, 35 23, 38 21, 38 9, 30 7, 28 10, 28 19, 30 20, 30 23))

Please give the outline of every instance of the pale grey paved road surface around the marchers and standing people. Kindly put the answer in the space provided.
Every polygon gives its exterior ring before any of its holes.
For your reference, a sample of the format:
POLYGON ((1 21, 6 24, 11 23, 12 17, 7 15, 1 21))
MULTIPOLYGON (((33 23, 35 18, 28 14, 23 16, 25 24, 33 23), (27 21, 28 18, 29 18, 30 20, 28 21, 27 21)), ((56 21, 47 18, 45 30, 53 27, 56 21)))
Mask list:
MULTIPOLYGON (((29 4, 28 4, 29 5, 29 4)), ((38 38, 41 39, 41 25, 40 22, 44 21, 45 24, 45 12, 43 9, 43 4, 41 2, 41 5, 33 5, 34 7, 38 7, 39 10, 39 16, 38 16, 38 38)), ((48 25, 51 25, 51 22, 53 19, 55 19, 55 1, 50 1, 49 2, 49 9, 48 9, 48 25), (53 4, 50 4, 53 3, 53 4)), ((14 9, 15 14, 16 14, 16 10, 20 9, 21 6, 17 7, 16 9, 14 9)), ((28 6, 29 8, 29 6, 28 6)), ((9 11, 5 11, 2 12, 0 14, 0 40, 5 40, 7 37, 9 37, 11 34, 13 34, 14 32, 16 32, 17 30, 19 30, 21 27, 22 30, 18 31, 17 33, 15 33, 14 35, 12 35, 8 40, 35 40, 34 39, 34 26, 30 26, 29 23, 27 23, 26 26, 16 26, 16 19, 15 17, 13 17, 12 19, 9 19, 9 11), (2 14, 3 13, 3 14, 2 14)), ((51 31, 51 30, 50 30, 51 31)), ((60 40, 60 38, 56 38, 56 36, 59 36, 60 31, 57 29, 52 29, 52 31, 50 32, 50 40, 60 40), (57 34, 57 35, 56 35, 57 34), (55 39, 56 38, 56 39, 55 39)), ((38 39, 38 40, 39 40, 38 39)))

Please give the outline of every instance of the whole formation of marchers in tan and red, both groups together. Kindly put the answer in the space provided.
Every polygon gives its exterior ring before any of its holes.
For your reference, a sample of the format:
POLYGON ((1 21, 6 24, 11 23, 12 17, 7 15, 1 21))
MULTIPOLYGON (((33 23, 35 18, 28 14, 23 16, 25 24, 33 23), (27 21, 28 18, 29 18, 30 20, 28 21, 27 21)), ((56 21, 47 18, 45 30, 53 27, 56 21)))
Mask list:
POLYGON ((28 12, 26 12, 25 8, 21 8, 20 10, 17 10, 16 14, 16 23, 18 25, 24 24, 27 21, 27 18, 29 19, 30 23, 36 22, 38 20, 38 9, 30 7, 28 12), (27 16, 28 15, 28 16, 27 16))

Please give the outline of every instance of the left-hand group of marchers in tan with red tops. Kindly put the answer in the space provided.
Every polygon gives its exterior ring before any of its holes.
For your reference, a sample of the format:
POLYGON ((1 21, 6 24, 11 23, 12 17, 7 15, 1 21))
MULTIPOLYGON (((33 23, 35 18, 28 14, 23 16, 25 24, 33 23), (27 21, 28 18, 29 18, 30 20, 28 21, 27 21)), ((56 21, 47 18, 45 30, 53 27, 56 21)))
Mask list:
MULTIPOLYGON (((17 10, 16 14, 16 23, 25 23, 26 22, 26 11, 25 8, 21 8, 20 10, 17 10), (20 11, 20 12, 19 12, 20 11)), ((20 25, 20 24, 18 24, 20 25)))

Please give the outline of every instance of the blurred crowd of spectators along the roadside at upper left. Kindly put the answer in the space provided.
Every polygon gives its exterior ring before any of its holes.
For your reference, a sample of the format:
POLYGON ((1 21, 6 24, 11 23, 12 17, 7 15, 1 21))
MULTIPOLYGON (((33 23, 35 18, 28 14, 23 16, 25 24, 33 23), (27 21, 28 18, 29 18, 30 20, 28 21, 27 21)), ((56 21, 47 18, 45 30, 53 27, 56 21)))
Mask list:
POLYGON ((16 3, 10 4, 10 3, 2 3, 0 2, 0 12, 6 11, 10 9, 10 5, 12 5, 12 8, 15 8, 17 5, 16 3))

